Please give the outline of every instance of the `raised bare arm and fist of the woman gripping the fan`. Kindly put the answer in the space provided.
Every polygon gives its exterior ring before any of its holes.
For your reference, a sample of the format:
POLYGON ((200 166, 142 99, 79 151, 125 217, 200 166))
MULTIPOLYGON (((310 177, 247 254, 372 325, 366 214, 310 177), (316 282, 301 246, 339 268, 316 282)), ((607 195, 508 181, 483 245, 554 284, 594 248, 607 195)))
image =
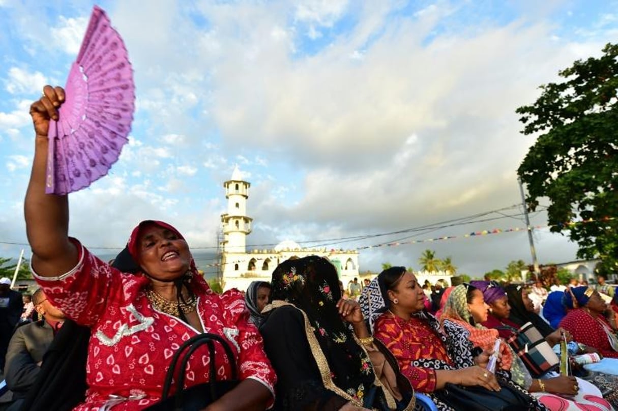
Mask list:
POLYGON ((64 274, 78 262, 77 248, 68 237, 69 199, 45 193, 49 119, 58 119, 57 109, 62 103, 64 90, 47 85, 43 96, 30 106, 36 134, 35 157, 23 208, 32 265, 43 277, 64 274))

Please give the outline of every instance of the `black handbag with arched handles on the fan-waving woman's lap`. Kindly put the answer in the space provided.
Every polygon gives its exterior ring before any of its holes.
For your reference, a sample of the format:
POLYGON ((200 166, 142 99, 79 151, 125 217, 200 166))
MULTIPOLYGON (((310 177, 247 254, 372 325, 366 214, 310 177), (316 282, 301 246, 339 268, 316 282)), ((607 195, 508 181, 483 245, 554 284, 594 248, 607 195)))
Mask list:
POLYGON ((163 384, 163 394, 161 394, 161 400, 156 404, 151 405, 146 410, 148 411, 197 411, 205 408, 208 404, 219 399, 226 392, 231 391, 235 386, 240 383, 238 379, 238 371, 236 369, 236 360, 234 353, 230 348, 227 341, 221 336, 216 334, 204 333, 198 336, 191 337, 180 345, 179 349, 174 353, 172 362, 169 365, 169 370, 165 376, 165 383, 163 384), (232 368, 232 379, 224 379, 217 381, 217 371, 214 364, 214 343, 218 342, 226 352, 227 359, 230 362, 232 368), (185 369, 189 358, 195 350, 201 347, 201 345, 208 345, 208 353, 210 354, 210 381, 208 383, 201 383, 194 385, 190 388, 184 388, 185 383, 185 369), (184 354, 180 361, 180 368, 177 378, 174 378, 174 370, 181 355, 184 354), (169 389, 172 386, 172 379, 176 380, 177 392, 173 396, 169 396, 169 389))

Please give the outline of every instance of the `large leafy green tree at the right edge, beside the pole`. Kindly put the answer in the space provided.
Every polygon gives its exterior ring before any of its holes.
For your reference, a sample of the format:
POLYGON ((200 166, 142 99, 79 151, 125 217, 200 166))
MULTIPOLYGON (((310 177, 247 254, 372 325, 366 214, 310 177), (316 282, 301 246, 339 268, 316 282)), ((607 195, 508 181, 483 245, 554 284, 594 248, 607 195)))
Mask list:
POLYGON ((525 135, 540 133, 517 174, 535 210, 548 197, 551 231, 567 231, 577 256, 618 263, 618 45, 575 61, 561 83, 541 86, 531 106, 517 109, 525 135), (581 221, 574 223, 574 221, 581 221))

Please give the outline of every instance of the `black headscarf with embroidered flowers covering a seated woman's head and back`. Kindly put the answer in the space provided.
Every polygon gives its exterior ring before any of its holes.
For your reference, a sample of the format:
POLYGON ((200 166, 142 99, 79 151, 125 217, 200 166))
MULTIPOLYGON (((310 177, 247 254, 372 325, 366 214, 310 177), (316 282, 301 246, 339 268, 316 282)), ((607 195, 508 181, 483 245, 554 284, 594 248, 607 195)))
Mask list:
POLYGON ((362 397, 359 391, 370 389, 375 375, 368 355, 339 315, 337 302, 342 290, 336 268, 316 255, 287 260, 273 271, 271 285, 271 300, 294 304, 307 315, 333 383, 354 397, 362 397))

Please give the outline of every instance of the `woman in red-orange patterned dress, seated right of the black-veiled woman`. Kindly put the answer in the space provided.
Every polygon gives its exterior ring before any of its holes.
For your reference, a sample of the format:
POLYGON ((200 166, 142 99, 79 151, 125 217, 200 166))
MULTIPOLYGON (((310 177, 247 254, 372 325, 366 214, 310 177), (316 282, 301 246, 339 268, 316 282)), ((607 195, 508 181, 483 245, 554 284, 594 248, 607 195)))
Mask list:
MULTIPOLYGON (((414 274, 405 267, 391 267, 379 274, 378 283, 382 307, 371 309, 381 311, 374 337, 391 350, 415 390, 428 394, 439 410, 452 410, 436 395, 447 383, 501 390, 496 376, 485 368, 490 352, 473 347, 465 334, 442 328, 424 309, 423 289, 414 274)), ((510 381, 501 383, 527 394, 510 381)), ((532 397, 530 404, 535 410, 545 410, 532 397)))

